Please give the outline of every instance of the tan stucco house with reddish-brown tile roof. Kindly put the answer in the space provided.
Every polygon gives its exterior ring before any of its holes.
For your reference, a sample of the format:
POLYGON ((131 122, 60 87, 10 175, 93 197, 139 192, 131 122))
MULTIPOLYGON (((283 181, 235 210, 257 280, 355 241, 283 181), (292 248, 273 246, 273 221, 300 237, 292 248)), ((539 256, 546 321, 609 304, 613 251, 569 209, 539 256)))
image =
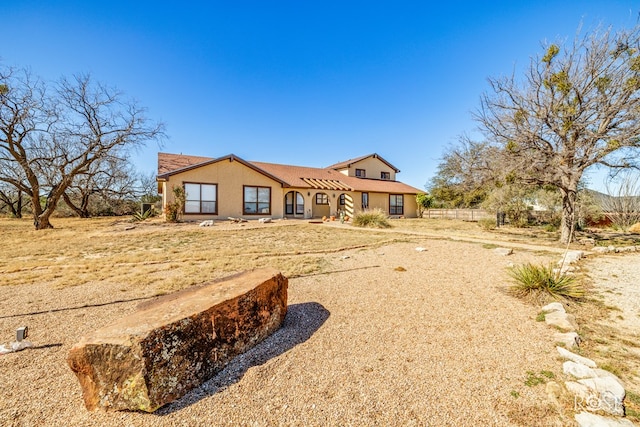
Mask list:
POLYGON ((163 209, 172 189, 185 189, 186 219, 317 218, 379 208, 391 217, 416 217, 423 191, 396 181, 400 170, 378 154, 326 168, 249 162, 229 154, 200 157, 158 153, 163 209))

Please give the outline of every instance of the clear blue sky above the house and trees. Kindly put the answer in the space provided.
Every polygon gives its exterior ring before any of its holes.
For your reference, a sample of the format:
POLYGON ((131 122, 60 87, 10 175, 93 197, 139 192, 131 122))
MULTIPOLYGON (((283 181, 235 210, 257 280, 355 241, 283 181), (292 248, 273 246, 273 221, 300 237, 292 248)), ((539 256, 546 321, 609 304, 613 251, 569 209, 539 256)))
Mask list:
MULTIPOLYGON (((166 123, 159 150, 323 167, 377 152, 423 189, 487 77, 637 1, 5 1, 0 60, 91 73, 166 123)), ((591 187, 601 187, 593 176, 591 187)))

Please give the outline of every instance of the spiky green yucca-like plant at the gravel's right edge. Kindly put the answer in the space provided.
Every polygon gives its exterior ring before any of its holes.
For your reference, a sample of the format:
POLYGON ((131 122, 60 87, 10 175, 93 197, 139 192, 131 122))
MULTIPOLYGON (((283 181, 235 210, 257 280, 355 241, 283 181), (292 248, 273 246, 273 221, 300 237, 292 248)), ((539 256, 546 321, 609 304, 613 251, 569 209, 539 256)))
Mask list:
POLYGON ((540 293, 547 293, 554 298, 580 299, 584 296, 584 287, 576 277, 556 270, 553 264, 516 265, 509 269, 509 275, 515 280, 511 290, 519 296, 536 296, 540 293))

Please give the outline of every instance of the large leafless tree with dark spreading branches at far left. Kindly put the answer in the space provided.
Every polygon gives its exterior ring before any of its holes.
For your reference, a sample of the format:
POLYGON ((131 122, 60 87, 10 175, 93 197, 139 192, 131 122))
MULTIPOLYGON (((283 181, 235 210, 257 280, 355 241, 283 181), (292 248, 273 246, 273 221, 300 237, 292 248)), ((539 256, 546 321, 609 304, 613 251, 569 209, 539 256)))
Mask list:
POLYGON ((26 70, 0 69, 0 181, 30 196, 36 229, 51 228, 74 181, 162 135, 144 113, 86 75, 47 87, 26 70))

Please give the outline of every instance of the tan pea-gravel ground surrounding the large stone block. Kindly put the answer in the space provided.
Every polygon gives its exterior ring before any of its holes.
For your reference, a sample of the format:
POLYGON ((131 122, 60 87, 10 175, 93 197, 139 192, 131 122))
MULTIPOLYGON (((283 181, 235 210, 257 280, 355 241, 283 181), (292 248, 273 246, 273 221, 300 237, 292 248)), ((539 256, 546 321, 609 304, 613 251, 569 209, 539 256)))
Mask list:
POLYGON ((559 374, 553 330, 504 287, 507 264, 555 258, 426 238, 329 254, 331 273, 290 280, 283 328, 155 414, 87 412, 66 365, 82 334, 140 301, 99 304, 153 290, 3 287, 1 336, 27 324, 37 348, 0 356, 0 425, 554 425, 544 386, 524 384, 559 374))

